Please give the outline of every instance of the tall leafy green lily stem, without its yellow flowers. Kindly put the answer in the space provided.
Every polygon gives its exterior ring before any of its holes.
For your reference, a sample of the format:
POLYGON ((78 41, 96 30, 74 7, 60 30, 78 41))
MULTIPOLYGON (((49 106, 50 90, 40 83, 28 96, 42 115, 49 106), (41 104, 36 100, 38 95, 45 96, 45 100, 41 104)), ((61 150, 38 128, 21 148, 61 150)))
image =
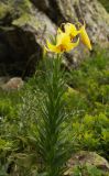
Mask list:
POLYGON ((42 100, 42 122, 39 125, 39 151, 47 176, 61 176, 68 158, 68 130, 65 127, 66 112, 64 72, 61 70, 61 57, 45 62, 44 92, 42 100))

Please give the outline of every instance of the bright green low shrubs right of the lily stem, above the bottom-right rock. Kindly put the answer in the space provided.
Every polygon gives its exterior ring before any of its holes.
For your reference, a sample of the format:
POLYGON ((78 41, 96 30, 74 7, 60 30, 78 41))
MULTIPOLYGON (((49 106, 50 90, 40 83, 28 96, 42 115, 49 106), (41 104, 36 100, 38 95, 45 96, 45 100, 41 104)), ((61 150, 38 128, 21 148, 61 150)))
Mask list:
POLYGON ((97 151, 109 160, 109 53, 97 52, 84 61, 69 73, 68 82, 73 89, 66 101, 74 111, 70 134, 76 135, 76 148, 97 151))

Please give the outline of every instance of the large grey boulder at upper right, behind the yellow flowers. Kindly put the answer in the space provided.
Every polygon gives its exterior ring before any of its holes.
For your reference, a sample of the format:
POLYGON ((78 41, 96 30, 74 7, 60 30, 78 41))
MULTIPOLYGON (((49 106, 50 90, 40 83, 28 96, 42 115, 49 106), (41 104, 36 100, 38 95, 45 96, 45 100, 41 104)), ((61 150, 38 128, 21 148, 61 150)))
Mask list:
MULTIPOLYGON (((87 26, 92 48, 95 45, 109 47, 109 14, 97 0, 31 0, 35 7, 47 14, 56 24, 73 22, 84 19, 87 26), (43 7, 44 4, 44 7, 43 7), (102 15, 103 14, 103 15, 102 15)), ((78 65, 90 52, 80 44, 70 54, 65 54, 66 65, 78 65)))

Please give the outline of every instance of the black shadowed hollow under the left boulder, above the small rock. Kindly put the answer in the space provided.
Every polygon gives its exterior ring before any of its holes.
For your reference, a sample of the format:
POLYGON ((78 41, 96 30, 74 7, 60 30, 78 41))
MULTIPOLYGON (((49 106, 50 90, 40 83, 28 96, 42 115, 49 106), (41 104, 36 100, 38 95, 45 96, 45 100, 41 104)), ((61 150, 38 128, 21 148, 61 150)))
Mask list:
POLYGON ((18 26, 0 28, 0 75, 31 76, 41 57, 34 33, 18 26))

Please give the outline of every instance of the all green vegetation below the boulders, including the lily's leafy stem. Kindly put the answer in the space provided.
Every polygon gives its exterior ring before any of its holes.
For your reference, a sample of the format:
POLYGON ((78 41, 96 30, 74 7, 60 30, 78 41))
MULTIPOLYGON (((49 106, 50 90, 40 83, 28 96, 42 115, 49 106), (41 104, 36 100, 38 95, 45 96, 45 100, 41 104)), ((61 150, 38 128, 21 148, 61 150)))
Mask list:
MULTIPOLYGON (((67 73, 59 66, 46 58, 24 88, 0 90, 2 176, 59 176, 70 152, 83 150, 109 160, 109 52, 67 73)), ((73 172, 102 175, 91 166, 73 172)))

